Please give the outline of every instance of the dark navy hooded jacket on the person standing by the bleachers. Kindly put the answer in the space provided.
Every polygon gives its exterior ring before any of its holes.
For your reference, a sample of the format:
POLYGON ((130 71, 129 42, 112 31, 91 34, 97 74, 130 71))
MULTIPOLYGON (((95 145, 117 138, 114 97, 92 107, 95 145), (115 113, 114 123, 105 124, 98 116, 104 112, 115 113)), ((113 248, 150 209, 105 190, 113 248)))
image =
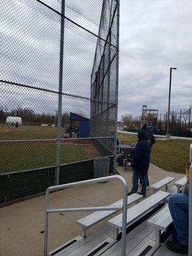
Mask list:
POLYGON ((150 162, 150 143, 145 132, 138 132, 138 143, 134 149, 131 166, 135 172, 148 172, 150 162))

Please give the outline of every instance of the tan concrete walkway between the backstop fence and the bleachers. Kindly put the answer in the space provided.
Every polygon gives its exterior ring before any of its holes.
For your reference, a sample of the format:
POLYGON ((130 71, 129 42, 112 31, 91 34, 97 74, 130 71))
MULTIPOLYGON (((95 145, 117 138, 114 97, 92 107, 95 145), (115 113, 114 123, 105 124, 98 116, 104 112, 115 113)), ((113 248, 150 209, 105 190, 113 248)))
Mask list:
MULTIPOLYGON (((118 166, 118 173, 127 180, 131 190, 131 175, 129 169, 118 166)), ((150 184, 164 177, 184 177, 179 173, 169 173, 150 164, 148 177, 150 184)), ((152 191, 147 191, 147 196, 152 191)), ((122 185, 113 180, 104 184, 68 188, 51 194, 51 207, 88 207, 93 205, 109 205, 122 198, 122 185)), ((52 214, 49 225, 49 252, 66 241, 80 234, 76 225, 79 218, 88 212, 52 214)), ((0 209, 0 255, 1 256, 42 256, 44 245, 45 196, 38 196, 17 204, 0 209)), ((88 235, 104 223, 88 230, 88 235)))

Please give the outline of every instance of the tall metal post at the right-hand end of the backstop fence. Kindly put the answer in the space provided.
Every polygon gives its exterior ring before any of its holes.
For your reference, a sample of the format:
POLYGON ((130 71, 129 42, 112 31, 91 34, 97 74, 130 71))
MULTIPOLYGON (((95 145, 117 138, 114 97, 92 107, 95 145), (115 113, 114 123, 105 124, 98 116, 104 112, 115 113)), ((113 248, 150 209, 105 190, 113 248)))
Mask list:
MULTIPOLYGON (((115 88, 115 131, 114 131, 114 157, 113 171, 116 172, 116 138, 117 138, 117 114, 118 114, 118 67, 119 67, 119 24, 120 24, 120 0, 116 1, 116 88, 115 88)), ((125 242, 125 241, 124 241, 125 242)))

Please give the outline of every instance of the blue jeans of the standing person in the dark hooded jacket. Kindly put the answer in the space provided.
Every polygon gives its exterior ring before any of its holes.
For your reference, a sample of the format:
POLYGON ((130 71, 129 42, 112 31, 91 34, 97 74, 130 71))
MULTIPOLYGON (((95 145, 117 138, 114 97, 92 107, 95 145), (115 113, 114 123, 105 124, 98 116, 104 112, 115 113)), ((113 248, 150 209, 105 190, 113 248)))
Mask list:
POLYGON ((138 192, 138 180, 141 178, 141 195, 146 195, 146 188, 147 188, 147 173, 136 172, 133 170, 132 172, 132 193, 138 192))

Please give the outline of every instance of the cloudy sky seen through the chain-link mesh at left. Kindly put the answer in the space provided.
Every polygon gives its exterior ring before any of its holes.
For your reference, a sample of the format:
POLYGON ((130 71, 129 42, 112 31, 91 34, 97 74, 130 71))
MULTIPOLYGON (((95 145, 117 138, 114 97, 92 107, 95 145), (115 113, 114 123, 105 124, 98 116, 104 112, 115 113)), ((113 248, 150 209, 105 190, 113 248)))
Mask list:
MULTIPOLYGON (((60 11, 59 1, 44 2, 60 11)), ((68 6, 69 2, 66 1, 68 6)), ((58 91, 60 15, 50 12, 36 1, 2 0, 0 4, 3 10, 0 17, 0 78, 58 91)), ((79 9, 76 3, 72 5, 81 12, 82 4, 79 4, 79 9)), ((70 8, 66 8, 66 14, 80 25, 86 20, 70 8)), ((96 33, 99 26, 87 21, 86 28, 96 33)), ((65 20, 63 92, 90 97, 96 44, 97 37, 65 20)), ((20 106, 34 109, 38 113, 55 113, 57 104, 58 97, 54 93, 1 84, 0 106, 8 110, 20 106)), ((63 111, 75 112, 79 109, 89 117, 90 101, 63 96, 63 111)))

